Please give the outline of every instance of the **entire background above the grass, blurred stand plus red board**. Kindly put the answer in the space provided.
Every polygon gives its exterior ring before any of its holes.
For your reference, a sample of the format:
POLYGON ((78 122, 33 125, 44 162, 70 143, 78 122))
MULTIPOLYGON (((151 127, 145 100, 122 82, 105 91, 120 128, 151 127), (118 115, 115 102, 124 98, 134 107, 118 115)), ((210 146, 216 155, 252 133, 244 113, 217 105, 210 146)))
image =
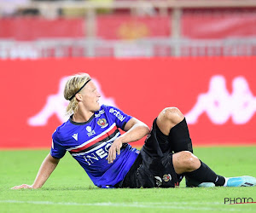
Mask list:
POLYGON ((0 0, 0 147, 49 147, 76 72, 149 126, 179 107, 195 145, 255 145, 255 55, 254 0, 0 0))

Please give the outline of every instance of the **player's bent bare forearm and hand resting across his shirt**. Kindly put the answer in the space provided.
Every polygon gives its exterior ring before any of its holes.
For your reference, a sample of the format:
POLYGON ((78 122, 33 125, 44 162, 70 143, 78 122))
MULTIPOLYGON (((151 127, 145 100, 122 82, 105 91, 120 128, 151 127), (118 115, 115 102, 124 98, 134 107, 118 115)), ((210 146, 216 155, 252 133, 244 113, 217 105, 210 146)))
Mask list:
POLYGON ((113 160, 116 158, 116 154, 120 153, 120 148, 123 143, 138 141, 149 133, 148 126, 137 118, 131 118, 125 124, 124 130, 125 134, 120 135, 115 141, 113 141, 112 146, 108 150, 108 164, 113 163, 113 160))

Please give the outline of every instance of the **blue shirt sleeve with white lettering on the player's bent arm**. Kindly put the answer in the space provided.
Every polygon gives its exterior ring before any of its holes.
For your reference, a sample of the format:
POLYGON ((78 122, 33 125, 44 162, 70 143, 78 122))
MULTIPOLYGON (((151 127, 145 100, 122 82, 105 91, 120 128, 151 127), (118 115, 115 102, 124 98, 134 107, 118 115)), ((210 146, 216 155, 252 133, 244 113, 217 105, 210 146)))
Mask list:
POLYGON ((130 115, 125 114, 125 112, 119 110, 117 107, 106 106, 108 114, 113 118, 115 124, 121 130, 124 130, 125 124, 132 118, 130 115))

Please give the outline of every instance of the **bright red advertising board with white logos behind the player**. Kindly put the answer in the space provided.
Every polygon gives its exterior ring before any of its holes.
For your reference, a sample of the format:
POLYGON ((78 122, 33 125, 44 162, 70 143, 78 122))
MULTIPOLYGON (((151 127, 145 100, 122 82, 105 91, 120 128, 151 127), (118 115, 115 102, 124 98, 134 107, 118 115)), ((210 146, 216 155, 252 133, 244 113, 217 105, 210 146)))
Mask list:
POLYGON ((1 148, 50 147, 67 120, 66 77, 78 72, 103 103, 148 126, 178 107, 195 146, 256 144, 256 57, 0 60, 0 69, 1 148))

